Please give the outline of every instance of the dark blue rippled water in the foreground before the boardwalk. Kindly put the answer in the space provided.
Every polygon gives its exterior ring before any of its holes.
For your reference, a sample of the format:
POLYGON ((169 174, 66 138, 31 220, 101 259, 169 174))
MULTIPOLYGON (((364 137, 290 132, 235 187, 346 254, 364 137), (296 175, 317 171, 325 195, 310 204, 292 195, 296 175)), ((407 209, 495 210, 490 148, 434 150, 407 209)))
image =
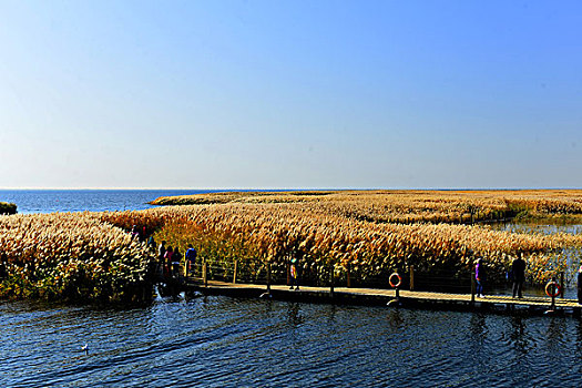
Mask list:
POLYGON ((582 323, 573 318, 208 296, 129 310, 4 303, 0 330, 2 387, 582 382, 582 323))

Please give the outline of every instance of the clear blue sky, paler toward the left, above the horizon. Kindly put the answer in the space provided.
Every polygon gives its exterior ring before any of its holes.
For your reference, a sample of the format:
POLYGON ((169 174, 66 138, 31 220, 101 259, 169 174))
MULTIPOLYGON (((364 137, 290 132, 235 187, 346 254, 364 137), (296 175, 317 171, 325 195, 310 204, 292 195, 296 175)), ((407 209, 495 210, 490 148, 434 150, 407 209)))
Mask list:
POLYGON ((0 187, 582 187, 580 1, 0 16, 0 187))

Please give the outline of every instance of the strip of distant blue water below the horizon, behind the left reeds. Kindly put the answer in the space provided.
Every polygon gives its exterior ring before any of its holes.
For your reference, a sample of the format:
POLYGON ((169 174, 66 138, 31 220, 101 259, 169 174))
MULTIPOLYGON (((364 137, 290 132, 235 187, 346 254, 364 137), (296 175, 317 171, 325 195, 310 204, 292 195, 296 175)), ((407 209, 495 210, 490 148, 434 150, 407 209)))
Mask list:
POLYGON ((18 213, 141 211, 160 196, 215 193, 217 190, 0 190, 0 202, 18 213))

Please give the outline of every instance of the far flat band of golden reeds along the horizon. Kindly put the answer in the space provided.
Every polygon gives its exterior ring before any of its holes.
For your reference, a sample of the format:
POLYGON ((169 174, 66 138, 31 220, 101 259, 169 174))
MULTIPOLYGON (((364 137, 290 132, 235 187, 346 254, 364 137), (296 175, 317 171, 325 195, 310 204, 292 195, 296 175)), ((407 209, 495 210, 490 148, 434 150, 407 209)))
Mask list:
MULTIPOLYGON (((313 191, 239 192, 161 197, 157 205, 304 203, 327 213, 384 223, 474 223, 517 215, 582 214, 582 191, 313 191)), ((575 218, 575 222, 582 218, 575 218)))

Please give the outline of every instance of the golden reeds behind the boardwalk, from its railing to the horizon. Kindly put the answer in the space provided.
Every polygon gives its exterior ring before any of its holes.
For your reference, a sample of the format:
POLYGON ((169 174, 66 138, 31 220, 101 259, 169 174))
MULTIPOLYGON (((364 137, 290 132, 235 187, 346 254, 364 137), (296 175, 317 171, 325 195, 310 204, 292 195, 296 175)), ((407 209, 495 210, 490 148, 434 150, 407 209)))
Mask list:
POLYGON ((337 276, 349 267, 361 280, 408 273, 411 265, 418 275, 467 277, 483 257, 491 278, 500 280, 511 258, 524 254, 530 280, 543 283, 566 267, 564 248, 570 261, 581 259, 582 236, 497 232, 478 222, 580 222, 582 191, 218 193, 155 203, 203 204, 153 211, 170 221, 157 237, 181 246, 192 242, 213 261, 253 263, 256 276, 266 262, 285 273, 295 256, 304 274, 321 280, 330 266, 337 276))

